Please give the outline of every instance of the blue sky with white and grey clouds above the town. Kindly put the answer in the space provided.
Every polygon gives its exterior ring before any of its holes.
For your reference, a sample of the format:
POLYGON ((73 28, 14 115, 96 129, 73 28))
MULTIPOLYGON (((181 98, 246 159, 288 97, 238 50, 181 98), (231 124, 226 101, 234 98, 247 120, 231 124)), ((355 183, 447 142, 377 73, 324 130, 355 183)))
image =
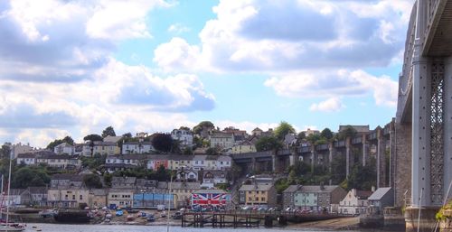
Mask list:
POLYGON ((2 0, 0 142, 386 125, 414 0, 2 0))

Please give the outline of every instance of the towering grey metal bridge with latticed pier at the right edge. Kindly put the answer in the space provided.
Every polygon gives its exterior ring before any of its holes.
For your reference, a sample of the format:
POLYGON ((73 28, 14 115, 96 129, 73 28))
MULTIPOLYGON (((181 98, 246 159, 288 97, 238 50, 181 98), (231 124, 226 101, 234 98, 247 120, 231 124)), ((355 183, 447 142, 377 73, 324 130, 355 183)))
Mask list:
POLYGON ((418 227, 419 209, 425 216, 421 229, 427 229, 429 215, 452 197, 451 42, 452 1, 418 0, 407 32, 395 123, 395 198, 399 206, 408 202, 407 229, 418 227))

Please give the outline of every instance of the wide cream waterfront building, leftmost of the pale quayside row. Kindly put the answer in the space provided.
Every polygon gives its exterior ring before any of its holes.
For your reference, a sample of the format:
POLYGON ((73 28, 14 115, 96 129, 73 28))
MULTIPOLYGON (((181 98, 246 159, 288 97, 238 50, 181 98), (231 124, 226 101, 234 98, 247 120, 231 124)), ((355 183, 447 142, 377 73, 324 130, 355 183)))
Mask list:
POLYGON ((89 205, 89 190, 71 186, 47 190, 47 205, 52 208, 72 208, 89 205))

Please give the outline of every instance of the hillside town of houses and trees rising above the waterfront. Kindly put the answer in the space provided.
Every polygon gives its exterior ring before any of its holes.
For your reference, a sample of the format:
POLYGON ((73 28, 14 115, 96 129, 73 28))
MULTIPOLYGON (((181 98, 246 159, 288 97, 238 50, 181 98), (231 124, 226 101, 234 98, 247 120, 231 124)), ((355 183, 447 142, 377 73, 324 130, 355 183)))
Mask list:
MULTIPOLYGON (((344 163, 345 158, 361 156, 354 149, 351 154, 321 155, 325 145, 337 144, 339 151, 341 141, 353 144, 354 138, 372 136, 372 132, 368 125, 341 125, 337 133, 326 128, 297 134, 292 125, 281 122, 274 129, 255 128, 248 133, 202 122, 193 129, 183 126, 171 133, 135 136, 118 136, 108 126, 101 135, 85 136, 83 143, 66 136, 43 149, 4 144, 0 163, 4 176, 5 161, 14 159, 12 189, 4 204, 12 208, 164 206, 344 215, 364 214, 372 206, 381 213, 394 204, 394 193, 388 178, 377 186, 375 160, 380 159, 377 150, 381 148, 372 145, 372 138, 362 151, 367 158, 356 158, 354 164, 344 163), (318 155, 309 150, 308 156, 300 154, 278 164, 287 164, 283 169, 275 166, 278 161, 265 160, 265 154, 277 157, 284 151, 310 147, 320 149, 318 155), (254 158, 243 162, 244 157, 254 158)), ((388 149, 389 145, 384 147, 388 149)))

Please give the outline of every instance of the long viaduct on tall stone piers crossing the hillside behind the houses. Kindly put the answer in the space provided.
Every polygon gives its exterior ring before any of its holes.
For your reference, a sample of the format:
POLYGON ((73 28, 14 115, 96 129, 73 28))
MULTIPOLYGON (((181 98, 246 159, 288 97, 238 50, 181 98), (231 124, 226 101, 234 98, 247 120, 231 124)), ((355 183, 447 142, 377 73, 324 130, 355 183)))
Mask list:
POLYGON ((232 160, 245 168, 248 172, 287 172, 290 165, 303 161, 314 168, 315 165, 324 166, 331 170, 332 161, 336 156, 345 157, 345 173, 348 176, 353 165, 368 165, 371 156, 375 157, 377 166, 377 187, 393 187, 395 161, 394 121, 383 128, 378 126, 367 133, 360 133, 354 137, 334 141, 329 144, 297 146, 282 149, 277 152, 235 153, 232 160), (385 154, 390 153, 389 172, 386 172, 385 154))

